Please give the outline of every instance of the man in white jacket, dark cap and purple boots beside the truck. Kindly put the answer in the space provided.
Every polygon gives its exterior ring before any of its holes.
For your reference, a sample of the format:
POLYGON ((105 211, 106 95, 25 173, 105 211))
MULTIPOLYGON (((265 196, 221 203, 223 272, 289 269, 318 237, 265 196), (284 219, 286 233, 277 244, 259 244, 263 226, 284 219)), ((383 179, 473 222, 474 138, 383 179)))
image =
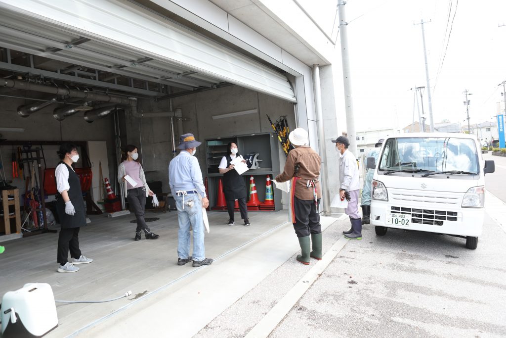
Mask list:
POLYGON ((348 200, 348 207, 345 213, 350 216, 351 229, 343 231, 348 239, 362 239, 362 219, 358 213, 358 195, 360 192, 360 177, 357 159, 348 151, 350 141, 344 136, 335 140, 335 151, 340 153, 339 157, 339 194, 341 200, 348 200))

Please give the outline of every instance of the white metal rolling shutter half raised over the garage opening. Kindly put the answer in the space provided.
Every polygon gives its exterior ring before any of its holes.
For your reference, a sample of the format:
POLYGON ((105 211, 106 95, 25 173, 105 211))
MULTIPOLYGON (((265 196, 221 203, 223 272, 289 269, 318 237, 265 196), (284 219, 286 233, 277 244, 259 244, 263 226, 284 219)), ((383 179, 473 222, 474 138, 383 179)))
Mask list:
MULTIPOLYGON (((107 43, 116 53, 142 53, 168 65, 297 101, 283 74, 128 1, 0 0, 0 10, 21 14, 34 25, 51 24, 53 36, 54 30, 79 34, 107 43)), ((44 30, 35 34, 48 37, 44 30)))

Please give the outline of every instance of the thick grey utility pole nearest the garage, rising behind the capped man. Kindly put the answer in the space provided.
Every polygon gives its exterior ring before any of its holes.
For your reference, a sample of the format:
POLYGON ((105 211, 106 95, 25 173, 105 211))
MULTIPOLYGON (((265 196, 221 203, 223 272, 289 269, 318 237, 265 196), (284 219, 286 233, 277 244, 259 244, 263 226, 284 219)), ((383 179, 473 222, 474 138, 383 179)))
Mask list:
POLYGON ((345 94, 346 111, 346 131, 350 145, 348 150, 358 157, 357 154, 357 135, 355 134, 355 117, 353 116, 353 99, 351 95, 351 74, 350 74, 350 56, 348 55, 348 22, 346 21, 346 2, 338 1, 339 12, 339 35, 341 37, 341 63, 343 64, 343 83, 345 94))

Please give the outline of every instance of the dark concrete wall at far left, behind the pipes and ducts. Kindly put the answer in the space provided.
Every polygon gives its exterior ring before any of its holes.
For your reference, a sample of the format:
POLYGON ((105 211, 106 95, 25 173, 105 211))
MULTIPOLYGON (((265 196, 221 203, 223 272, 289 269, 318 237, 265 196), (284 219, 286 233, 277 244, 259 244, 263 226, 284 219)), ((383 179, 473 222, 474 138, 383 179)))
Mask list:
MULTIPOLYGON (((2 94, 15 95, 15 96, 29 96, 41 99, 47 99, 46 94, 24 91, 8 91, 2 90, 2 94)), ((113 118, 108 116, 104 119, 97 120, 93 123, 86 122, 83 118, 83 112, 70 116, 63 121, 57 121, 53 118, 53 109, 61 106, 61 104, 53 104, 44 109, 35 112, 33 115, 22 118, 17 114, 17 107, 33 103, 32 100, 25 100, 19 98, 6 98, 0 97, 0 127, 15 127, 24 128, 24 132, 0 132, 2 139, 12 140, 31 140, 33 146, 37 145, 36 141, 106 141, 107 153, 109 155, 109 173, 103 173, 104 177, 113 177, 115 174, 115 158, 114 158, 114 127, 113 118)), ((12 178, 12 153, 16 152, 19 145, 2 145, 0 142, 0 149, 2 151, 2 160, 5 167, 5 173, 8 180, 12 178)), ((59 149, 57 145, 44 145, 44 153, 46 157, 46 164, 48 168, 55 168, 56 164, 60 161, 56 155, 59 149)), ((86 166, 83 163, 82 154, 76 166, 86 166)), ((43 163, 44 166, 44 163, 43 163)), ((44 167, 43 167, 44 169, 44 167)), ((2 171, 3 175, 3 171, 2 171)), ((25 174, 26 175, 26 174, 25 174)), ((111 183, 115 179, 110 179, 111 183)), ((23 194, 25 190, 25 181, 22 177, 16 178, 11 183, 17 186, 20 193, 23 194)))

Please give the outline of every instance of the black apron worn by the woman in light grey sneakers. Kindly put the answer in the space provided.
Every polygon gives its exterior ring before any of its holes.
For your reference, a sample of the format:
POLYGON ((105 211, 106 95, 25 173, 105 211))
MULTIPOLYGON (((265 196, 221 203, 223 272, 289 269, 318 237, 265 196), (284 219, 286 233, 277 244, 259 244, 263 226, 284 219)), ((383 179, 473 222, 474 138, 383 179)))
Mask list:
POLYGON ((75 208, 75 214, 73 216, 67 215, 65 213, 65 201, 63 201, 63 197, 60 193, 56 195, 56 210, 60 216, 60 224, 62 226, 62 229, 71 229, 86 226, 85 201, 82 199, 79 176, 77 176, 75 171, 65 162, 58 163, 58 165, 60 164, 64 164, 68 169, 68 184, 70 188, 67 191, 67 194, 70 202, 72 202, 72 205, 75 208))

